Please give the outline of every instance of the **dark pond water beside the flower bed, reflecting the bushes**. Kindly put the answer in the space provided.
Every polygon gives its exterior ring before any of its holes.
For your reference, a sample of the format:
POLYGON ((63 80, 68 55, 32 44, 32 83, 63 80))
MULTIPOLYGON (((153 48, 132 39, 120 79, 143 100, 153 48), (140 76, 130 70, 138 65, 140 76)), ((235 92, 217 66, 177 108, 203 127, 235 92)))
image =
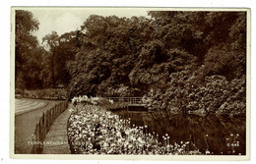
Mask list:
POLYGON ((190 141, 189 149, 200 149, 213 155, 245 155, 246 119, 216 115, 154 113, 135 107, 133 110, 114 111, 123 119, 131 119, 131 126, 147 126, 147 133, 168 134, 170 144, 190 141))

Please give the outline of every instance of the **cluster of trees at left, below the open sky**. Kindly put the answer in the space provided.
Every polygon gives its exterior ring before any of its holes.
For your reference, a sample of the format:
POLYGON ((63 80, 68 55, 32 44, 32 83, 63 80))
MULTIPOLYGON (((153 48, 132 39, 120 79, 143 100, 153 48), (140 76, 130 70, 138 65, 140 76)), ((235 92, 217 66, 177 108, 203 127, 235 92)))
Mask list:
POLYGON ((76 32, 67 32, 59 36, 52 31, 43 37, 43 43, 40 45, 37 38, 32 35, 39 26, 32 12, 17 10, 15 17, 17 90, 67 85, 70 75, 66 69, 66 61, 74 59, 77 53, 76 32))

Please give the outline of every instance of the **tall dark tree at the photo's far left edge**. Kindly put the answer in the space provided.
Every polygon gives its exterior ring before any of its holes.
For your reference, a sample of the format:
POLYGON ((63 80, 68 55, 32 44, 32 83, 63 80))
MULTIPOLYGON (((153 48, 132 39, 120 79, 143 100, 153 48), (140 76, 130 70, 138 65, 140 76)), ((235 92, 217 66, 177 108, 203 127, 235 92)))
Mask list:
POLYGON ((32 13, 24 10, 16 10, 15 13, 15 79, 16 87, 33 87, 30 83, 34 79, 33 69, 38 68, 34 63, 33 49, 38 47, 37 39, 32 35, 33 30, 38 29, 38 21, 32 13), (33 67, 34 65, 34 67, 33 67), (30 78, 31 77, 31 78, 30 78), (32 78, 33 77, 33 78, 32 78))

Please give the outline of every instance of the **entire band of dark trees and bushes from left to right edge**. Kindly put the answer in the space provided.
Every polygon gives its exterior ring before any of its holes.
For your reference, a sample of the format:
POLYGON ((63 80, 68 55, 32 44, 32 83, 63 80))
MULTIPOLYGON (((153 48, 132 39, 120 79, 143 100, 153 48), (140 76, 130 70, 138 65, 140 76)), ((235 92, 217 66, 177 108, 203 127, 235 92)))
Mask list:
POLYGON ((152 109, 244 115, 246 13, 149 16, 92 15, 81 30, 45 35, 42 48, 32 13, 17 11, 16 87, 62 84, 69 98, 144 95, 152 109))

